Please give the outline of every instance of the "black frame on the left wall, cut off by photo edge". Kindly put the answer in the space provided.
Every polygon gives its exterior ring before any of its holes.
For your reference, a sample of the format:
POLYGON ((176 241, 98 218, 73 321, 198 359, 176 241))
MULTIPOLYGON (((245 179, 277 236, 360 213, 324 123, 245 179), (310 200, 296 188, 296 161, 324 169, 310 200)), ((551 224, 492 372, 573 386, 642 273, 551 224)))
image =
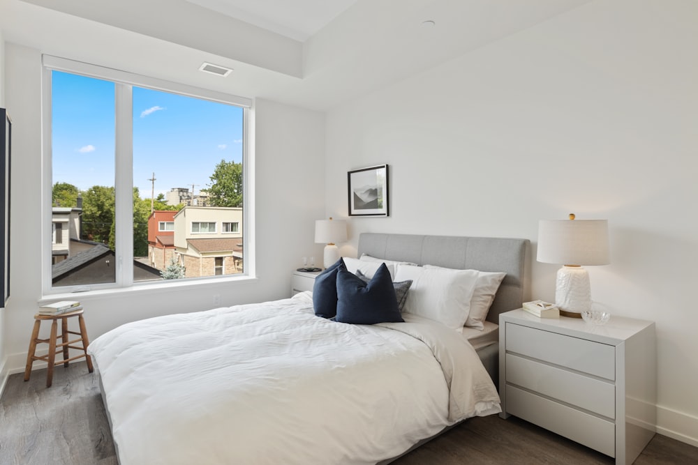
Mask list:
POLYGON ((7 110, 0 108, 0 292, 2 307, 10 298, 10 148, 12 120, 7 110))

